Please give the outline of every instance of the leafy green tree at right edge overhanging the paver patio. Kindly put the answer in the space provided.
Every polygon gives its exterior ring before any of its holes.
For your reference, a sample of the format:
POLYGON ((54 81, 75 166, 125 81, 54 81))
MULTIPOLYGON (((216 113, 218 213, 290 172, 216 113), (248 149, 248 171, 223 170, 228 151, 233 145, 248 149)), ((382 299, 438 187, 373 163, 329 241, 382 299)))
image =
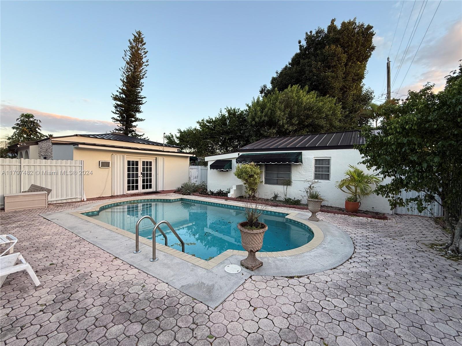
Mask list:
POLYGON ((444 248, 462 253, 462 65, 444 90, 435 94, 427 84, 380 114, 381 124, 366 128, 365 144, 358 146, 368 168, 391 178, 377 194, 392 208, 415 205, 422 211, 426 203, 441 204, 451 234, 444 248), (403 200, 403 190, 419 195, 403 200))

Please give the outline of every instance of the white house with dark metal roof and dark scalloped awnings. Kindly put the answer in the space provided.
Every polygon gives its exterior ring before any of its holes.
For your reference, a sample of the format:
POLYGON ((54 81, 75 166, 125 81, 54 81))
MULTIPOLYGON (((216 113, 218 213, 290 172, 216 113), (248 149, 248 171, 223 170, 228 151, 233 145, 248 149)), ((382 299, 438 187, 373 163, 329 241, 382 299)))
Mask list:
MULTIPOLYGON (((262 138, 237 152, 206 157, 207 187, 212 190, 231 188, 229 197, 242 196, 242 181, 234 175, 236 165, 255 162, 262 171, 259 197, 271 198, 277 192, 281 199, 284 198, 282 182, 291 179, 287 197, 306 203, 306 195, 302 192, 306 181, 316 179, 319 180, 317 189, 326 199, 324 204, 343 208, 347 195, 335 188, 335 182, 344 178, 348 165, 367 171, 359 164, 361 154, 353 149, 354 144, 362 143, 364 138, 359 130, 262 138)), ((364 197, 360 209, 390 213, 387 199, 376 195, 364 197)))

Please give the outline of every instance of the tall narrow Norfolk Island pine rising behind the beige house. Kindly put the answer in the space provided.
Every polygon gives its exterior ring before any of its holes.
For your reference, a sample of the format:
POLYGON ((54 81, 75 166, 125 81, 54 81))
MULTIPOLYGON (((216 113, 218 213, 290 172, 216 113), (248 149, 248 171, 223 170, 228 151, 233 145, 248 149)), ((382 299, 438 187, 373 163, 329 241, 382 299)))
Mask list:
POLYGON ((122 77, 120 78, 121 86, 115 94, 112 94, 114 101, 114 110, 116 114, 112 120, 117 127, 112 133, 122 133, 127 136, 144 137, 144 134, 136 132, 136 122, 144 121, 140 118, 141 106, 146 103, 146 96, 141 95, 143 90, 143 78, 146 77, 146 68, 148 66, 147 50, 145 48, 143 33, 140 30, 135 31, 133 38, 128 40, 128 49, 123 51, 123 61, 125 65, 120 69, 122 77))

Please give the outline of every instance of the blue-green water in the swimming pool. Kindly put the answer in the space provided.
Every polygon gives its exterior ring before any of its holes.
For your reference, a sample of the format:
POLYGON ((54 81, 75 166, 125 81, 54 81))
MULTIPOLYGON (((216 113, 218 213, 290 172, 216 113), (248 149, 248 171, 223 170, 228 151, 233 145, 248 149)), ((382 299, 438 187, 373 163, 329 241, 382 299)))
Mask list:
MULTIPOLYGON (((128 203, 114 203, 104 206, 98 212, 85 213, 93 219, 135 233, 136 221, 149 215, 156 221, 169 221, 185 242, 185 252, 204 260, 231 250, 243 250, 239 222, 245 221, 240 207, 218 203, 191 200, 143 200, 128 203)), ((265 211, 260 221, 268 225, 261 251, 284 251, 298 248, 311 239, 309 227, 296 221, 286 220, 284 213, 265 211)), ((152 222, 145 219, 140 223, 140 236, 152 239, 152 222)), ((181 251, 175 235, 165 225, 161 226, 167 235, 170 247, 181 251)), ((156 241, 164 244, 162 234, 156 234, 156 241)))

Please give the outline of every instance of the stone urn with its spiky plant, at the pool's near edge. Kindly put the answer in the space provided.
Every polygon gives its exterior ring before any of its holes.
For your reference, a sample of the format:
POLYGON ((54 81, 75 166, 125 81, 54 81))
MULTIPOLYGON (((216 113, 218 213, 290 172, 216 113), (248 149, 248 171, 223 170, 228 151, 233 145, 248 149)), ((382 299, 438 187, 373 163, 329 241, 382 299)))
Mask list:
POLYGON ((255 252, 261 250, 263 236, 268 229, 267 225, 258 221, 265 207, 259 207, 255 202, 244 203, 244 208, 246 221, 237 224, 237 228, 241 231, 242 247, 249 255, 241 261, 241 265, 247 269, 255 270, 263 265, 263 262, 256 258, 255 252))

